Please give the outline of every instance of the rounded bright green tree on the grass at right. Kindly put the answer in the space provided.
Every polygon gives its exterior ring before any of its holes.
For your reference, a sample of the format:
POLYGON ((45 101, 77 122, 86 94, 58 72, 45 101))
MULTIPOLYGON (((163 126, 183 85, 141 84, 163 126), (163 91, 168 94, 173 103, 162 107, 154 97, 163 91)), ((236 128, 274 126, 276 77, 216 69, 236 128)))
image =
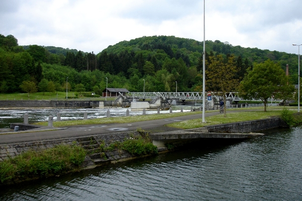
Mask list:
POLYGON ((271 60, 255 63, 252 70, 240 82, 239 92, 242 97, 261 99, 264 111, 268 98, 287 99, 292 97, 294 86, 287 84, 287 77, 281 66, 271 60))

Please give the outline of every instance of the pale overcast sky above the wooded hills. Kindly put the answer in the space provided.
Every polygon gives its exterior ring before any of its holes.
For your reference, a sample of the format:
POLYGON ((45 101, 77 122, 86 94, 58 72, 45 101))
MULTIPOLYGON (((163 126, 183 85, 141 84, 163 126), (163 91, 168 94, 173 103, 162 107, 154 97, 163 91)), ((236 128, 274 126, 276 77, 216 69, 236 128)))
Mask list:
MULTIPOLYGON (((297 54, 301 9, 301 0, 205 0, 205 40, 297 54)), ((203 0, 0 0, 0 34, 94 53, 142 36, 203 41, 203 0)))

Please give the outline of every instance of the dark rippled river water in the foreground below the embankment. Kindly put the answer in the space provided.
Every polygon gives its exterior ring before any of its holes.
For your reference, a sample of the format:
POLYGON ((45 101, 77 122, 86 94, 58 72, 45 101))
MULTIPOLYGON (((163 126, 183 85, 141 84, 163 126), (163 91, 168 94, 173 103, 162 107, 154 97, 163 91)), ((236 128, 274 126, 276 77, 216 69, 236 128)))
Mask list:
POLYGON ((301 200, 302 126, 0 189, 0 200, 301 200))

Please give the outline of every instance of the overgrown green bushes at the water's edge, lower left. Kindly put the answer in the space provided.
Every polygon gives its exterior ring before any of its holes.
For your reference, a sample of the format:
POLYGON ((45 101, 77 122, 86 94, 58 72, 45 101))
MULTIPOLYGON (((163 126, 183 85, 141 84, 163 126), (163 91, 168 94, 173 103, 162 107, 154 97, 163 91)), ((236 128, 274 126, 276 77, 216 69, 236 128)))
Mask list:
POLYGON ((86 151, 77 145, 58 145, 54 148, 27 151, 0 162, 0 181, 47 177, 77 169, 86 151))

